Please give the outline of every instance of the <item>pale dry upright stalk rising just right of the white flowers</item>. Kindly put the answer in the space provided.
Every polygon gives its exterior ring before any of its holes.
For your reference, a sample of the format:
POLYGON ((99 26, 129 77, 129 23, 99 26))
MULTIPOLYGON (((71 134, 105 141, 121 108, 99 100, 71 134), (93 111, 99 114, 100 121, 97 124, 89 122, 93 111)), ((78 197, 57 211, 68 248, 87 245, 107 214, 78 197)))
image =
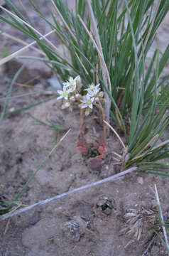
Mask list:
MULTIPOLYGON (((109 83, 109 92, 111 94, 111 80, 110 80, 110 77, 109 77, 109 70, 107 69, 107 65, 104 61, 102 44, 101 44, 101 41, 100 41, 100 38, 99 38, 97 23, 96 23, 95 18, 94 18, 94 13, 93 13, 93 10, 92 10, 91 1, 86 0, 86 2, 87 2, 87 5, 89 7, 89 16, 90 16, 90 20, 91 20, 91 23, 92 23, 94 38, 97 42, 99 52, 101 53, 101 56, 102 56, 102 58, 100 58, 100 55, 99 55, 99 60, 100 60, 101 68, 102 68, 102 75, 103 75, 104 85, 107 86, 107 81, 108 81, 108 83, 109 83)), ((107 122, 109 122, 110 100, 109 100, 109 95, 107 94, 106 90, 104 90, 104 94, 105 94, 105 100, 106 100, 105 106, 106 106, 107 122)))

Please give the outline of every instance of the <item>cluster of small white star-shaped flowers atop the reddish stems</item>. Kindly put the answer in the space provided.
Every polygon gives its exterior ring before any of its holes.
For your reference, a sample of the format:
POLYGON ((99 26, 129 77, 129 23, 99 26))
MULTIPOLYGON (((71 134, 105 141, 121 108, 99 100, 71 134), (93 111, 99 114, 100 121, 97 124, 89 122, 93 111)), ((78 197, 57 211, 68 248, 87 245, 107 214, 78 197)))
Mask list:
POLYGON ((75 79, 69 78, 67 82, 63 82, 63 90, 58 90, 58 100, 62 99, 62 109, 70 107, 72 110, 71 102, 80 102, 80 108, 85 110, 85 114, 89 115, 93 106, 97 105, 103 99, 103 92, 100 92, 99 85, 92 83, 84 92, 85 95, 81 95, 82 83, 80 76, 78 75, 75 79))

